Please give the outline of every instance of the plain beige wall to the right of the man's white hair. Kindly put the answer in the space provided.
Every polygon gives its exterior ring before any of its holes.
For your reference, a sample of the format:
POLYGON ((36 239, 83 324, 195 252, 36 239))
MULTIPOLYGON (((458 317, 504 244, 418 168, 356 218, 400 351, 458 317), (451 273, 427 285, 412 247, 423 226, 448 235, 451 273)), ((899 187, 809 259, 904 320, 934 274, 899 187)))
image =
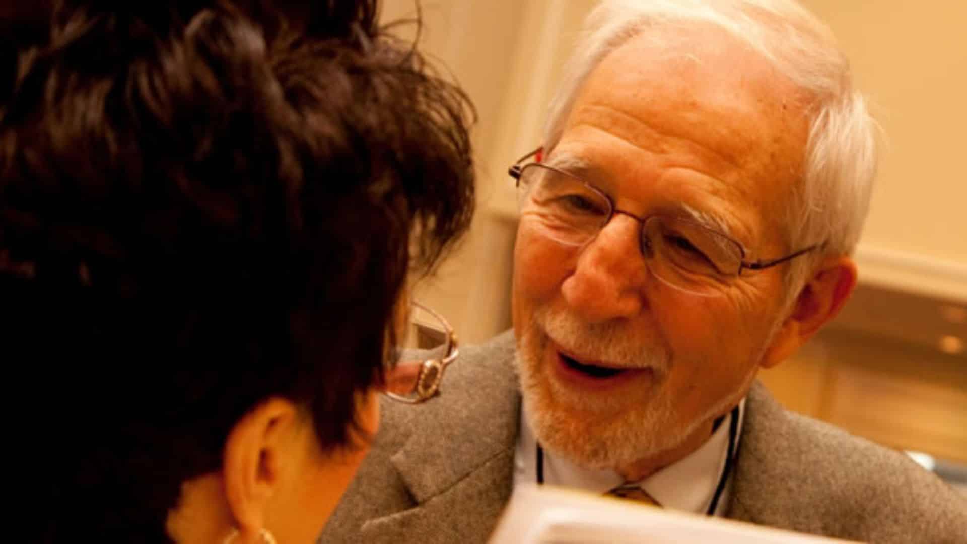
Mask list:
POLYGON ((833 27, 887 136, 865 279, 967 300, 967 2, 803 3, 833 27))

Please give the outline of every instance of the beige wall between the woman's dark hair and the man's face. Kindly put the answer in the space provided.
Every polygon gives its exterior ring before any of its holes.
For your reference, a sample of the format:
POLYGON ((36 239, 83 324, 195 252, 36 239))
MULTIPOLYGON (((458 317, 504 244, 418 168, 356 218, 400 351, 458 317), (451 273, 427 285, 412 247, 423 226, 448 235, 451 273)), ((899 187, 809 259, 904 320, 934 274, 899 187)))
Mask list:
MULTIPOLYGON (((441 61, 477 106, 478 207, 460 251, 417 296, 453 322, 465 342, 510 326, 514 235, 507 168, 540 142, 543 112, 593 0, 423 0, 422 49, 441 61)), ((414 14, 388 0, 382 19, 414 14)), ((404 28, 405 30, 405 28, 404 28)), ((407 36, 412 36, 412 25, 407 36)))

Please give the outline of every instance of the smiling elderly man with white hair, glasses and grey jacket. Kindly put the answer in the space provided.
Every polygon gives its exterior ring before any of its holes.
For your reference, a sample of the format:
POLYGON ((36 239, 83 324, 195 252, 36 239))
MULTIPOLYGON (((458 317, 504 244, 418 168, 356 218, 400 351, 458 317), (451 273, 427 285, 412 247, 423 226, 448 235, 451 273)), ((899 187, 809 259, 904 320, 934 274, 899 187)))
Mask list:
POLYGON ((875 542, 967 503, 755 381, 835 317, 875 171, 828 28, 791 0, 605 1, 512 168, 513 335, 387 407, 324 541, 481 542, 514 486, 875 542))

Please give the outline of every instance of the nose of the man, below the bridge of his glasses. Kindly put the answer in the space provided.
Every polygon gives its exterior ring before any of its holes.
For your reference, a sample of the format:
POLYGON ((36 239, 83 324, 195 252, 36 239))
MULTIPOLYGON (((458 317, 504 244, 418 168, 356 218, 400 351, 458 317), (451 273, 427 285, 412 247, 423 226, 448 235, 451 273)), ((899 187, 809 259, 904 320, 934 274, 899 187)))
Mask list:
POLYGON ((641 223, 616 214, 577 259, 561 290, 588 322, 637 316, 648 304, 648 269, 639 249, 641 223))

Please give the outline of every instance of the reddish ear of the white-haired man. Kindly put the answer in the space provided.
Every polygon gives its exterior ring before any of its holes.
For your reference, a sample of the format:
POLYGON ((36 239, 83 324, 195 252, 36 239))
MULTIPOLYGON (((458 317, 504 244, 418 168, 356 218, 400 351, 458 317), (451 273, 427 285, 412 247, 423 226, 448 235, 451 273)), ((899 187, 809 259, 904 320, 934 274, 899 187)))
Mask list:
POLYGON ((856 287, 856 263, 850 257, 827 257, 799 292, 792 313, 782 323, 759 363, 773 368, 836 317, 856 287))

